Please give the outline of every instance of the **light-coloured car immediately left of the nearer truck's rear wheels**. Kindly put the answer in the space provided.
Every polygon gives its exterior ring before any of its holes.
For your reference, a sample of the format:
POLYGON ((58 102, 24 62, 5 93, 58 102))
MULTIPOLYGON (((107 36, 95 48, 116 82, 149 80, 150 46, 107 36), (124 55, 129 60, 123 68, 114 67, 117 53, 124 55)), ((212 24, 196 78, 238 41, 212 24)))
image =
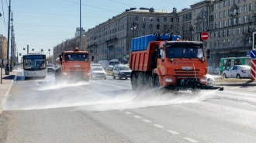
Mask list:
POLYGON ((130 70, 129 66, 122 65, 122 64, 116 64, 113 68, 112 77, 113 79, 116 79, 116 77, 121 80, 122 78, 130 78, 130 73, 132 70, 130 70))

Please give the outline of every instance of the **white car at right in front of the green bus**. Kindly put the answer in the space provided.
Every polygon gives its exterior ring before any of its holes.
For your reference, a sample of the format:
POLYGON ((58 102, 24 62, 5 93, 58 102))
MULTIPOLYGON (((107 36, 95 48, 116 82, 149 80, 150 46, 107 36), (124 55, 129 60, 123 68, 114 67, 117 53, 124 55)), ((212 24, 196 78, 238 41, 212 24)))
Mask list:
POLYGON ((251 78, 251 66, 235 65, 231 66, 229 70, 224 70, 223 78, 251 78))

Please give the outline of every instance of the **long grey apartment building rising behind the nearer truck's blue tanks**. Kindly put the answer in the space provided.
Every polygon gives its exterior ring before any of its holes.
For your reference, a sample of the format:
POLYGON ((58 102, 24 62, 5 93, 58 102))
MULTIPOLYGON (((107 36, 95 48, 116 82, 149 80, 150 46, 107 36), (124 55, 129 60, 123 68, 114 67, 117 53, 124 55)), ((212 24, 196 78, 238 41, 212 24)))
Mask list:
POLYGON ((112 59, 127 62, 132 38, 154 32, 177 33, 177 18, 176 9, 126 9, 126 12, 88 29, 85 32, 86 48, 96 62, 112 59))

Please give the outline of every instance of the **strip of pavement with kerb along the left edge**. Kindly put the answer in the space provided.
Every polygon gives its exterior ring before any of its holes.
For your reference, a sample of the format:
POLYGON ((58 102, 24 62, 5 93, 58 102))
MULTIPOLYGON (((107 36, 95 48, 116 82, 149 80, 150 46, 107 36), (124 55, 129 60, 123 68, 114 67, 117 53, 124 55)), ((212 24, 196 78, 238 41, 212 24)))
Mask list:
MULTIPOLYGON (((5 69, 2 69, 2 83, 0 83, 0 117, 2 115, 3 107, 5 106, 5 102, 9 96, 9 92, 12 88, 13 79, 16 75, 16 70, 9 73, 9 75, 5 75, 5 69)), ((1 76, 1 68, 0 68, 0 76, 1 76)), ((1 80, 1 79, 0 79, 1 80)))

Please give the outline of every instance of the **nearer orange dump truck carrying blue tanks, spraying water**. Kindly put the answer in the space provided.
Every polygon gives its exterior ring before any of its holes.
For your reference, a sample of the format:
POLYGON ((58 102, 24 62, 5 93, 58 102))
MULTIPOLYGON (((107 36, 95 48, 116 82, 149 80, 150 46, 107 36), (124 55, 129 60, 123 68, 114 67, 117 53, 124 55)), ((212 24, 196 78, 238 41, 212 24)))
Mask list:
POLYGON ((223 90, 207 85, 207 56, 201 42, 156 34, 132 39, 130 50, 133 90, 165 87, 175 92, 192 90, 193 94, 223 90))

